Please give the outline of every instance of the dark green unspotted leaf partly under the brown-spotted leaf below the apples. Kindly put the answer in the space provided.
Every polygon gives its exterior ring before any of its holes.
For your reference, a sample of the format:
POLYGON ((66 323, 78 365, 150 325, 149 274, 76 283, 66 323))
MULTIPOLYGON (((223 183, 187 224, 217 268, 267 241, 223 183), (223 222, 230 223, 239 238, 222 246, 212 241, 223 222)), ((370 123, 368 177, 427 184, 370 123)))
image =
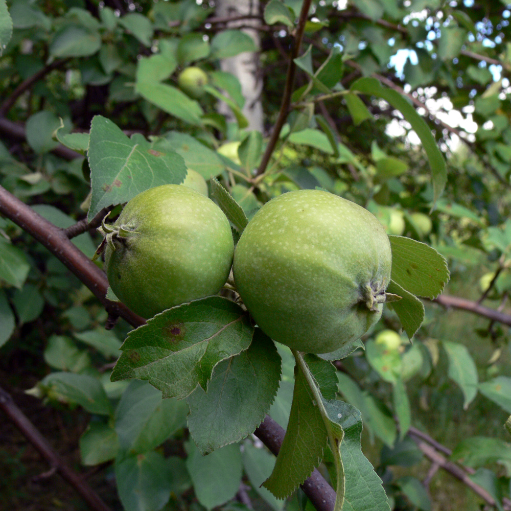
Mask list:
POLYGON ((197 387, 187 398, 188 428, 201 453, 253 433, 270 408, 280 375, 275 344, 255 330, 248 350, 215 367, 207 392, 197 387))

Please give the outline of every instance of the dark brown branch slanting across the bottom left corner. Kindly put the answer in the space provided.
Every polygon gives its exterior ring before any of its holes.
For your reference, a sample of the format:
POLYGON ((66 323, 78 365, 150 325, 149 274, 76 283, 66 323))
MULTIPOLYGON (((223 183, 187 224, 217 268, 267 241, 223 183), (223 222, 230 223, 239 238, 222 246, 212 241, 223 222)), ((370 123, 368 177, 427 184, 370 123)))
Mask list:
MULTIPOLYGON (((39 454, 50 463, 52 470, 57 471, 71 484, 90 509, 95 511, 111 511, 99 495, 51 448, 39 430, 30 422, 28 417, 16 406, 12 397, 0 387, 0 409, 9 420, 23 433, 27 440, 37 449, 39 454)), ((41 477, 41 476, 39 476, 41 477)))

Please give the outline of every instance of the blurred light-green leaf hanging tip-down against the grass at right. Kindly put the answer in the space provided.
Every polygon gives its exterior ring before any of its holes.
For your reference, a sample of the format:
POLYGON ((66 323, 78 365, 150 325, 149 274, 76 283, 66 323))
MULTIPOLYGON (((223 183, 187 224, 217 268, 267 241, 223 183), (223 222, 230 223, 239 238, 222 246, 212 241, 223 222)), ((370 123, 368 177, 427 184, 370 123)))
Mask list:
POLYGON ((477 367, 467 346, 456 342, 444 341, 449 358, 449 378, 461 388, 464 396, 463 408, 466 410, 477 394, 477 367))

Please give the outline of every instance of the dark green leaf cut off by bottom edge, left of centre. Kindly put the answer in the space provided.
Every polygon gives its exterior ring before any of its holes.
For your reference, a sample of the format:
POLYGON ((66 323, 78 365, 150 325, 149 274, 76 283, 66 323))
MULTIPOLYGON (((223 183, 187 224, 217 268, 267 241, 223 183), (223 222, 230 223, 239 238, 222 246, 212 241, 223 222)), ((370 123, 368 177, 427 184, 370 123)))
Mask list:
POLYGON ((173 462, 159 452, 117 459, 114 463, 117 492, 125 511, 158 511, 173 489, 173 462))

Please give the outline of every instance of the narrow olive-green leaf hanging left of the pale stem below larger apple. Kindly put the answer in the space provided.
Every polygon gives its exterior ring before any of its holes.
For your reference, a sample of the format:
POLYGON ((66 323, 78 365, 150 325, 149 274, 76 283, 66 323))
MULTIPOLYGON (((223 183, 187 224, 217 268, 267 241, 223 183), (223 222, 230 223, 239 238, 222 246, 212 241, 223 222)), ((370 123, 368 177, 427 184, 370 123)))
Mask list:
POLYGON ((303 371, 295 369, 293 402, 275 467, 263 486, 277 499, 296 490, 317 467, 327 448, 327 429, 303 371))

